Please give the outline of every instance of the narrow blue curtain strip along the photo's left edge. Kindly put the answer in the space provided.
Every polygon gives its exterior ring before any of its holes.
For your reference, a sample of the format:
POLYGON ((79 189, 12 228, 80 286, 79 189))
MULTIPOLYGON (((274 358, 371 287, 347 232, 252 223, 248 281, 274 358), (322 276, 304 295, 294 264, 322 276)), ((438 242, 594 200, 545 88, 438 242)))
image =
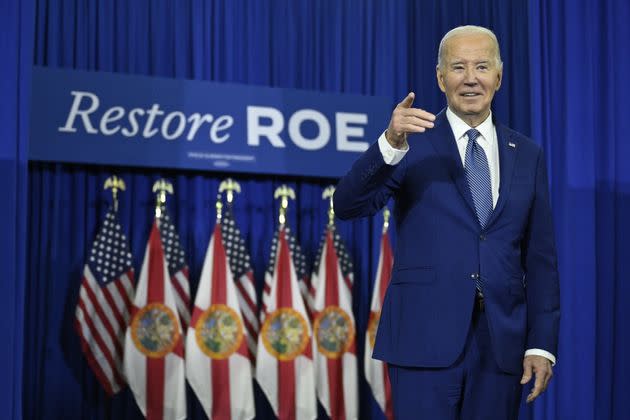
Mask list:
POLYGON ((33 5, 30 0, 0 5, 0 182, 4 198, 0 206, 4 224, 0 237, 0 406, 8 419, 22 418, 33 5))

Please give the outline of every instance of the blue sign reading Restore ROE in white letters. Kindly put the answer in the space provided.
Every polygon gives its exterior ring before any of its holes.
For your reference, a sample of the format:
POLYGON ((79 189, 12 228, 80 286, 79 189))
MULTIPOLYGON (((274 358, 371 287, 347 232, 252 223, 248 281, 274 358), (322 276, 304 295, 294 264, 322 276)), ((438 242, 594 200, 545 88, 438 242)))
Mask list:
POLYGON ((388 123, 379 97, 33 69, 29 159, 338 177, 388 123))

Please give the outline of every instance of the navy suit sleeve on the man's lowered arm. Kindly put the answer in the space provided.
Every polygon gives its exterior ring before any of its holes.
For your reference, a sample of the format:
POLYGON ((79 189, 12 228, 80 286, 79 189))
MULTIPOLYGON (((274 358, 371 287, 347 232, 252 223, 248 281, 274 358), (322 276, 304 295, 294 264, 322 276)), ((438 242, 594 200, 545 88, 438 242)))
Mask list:
POLYGON ((527 347, 558 354, 560 285, 547 170, 538 153, 536 192, 523 241, 527 297, 527 347))

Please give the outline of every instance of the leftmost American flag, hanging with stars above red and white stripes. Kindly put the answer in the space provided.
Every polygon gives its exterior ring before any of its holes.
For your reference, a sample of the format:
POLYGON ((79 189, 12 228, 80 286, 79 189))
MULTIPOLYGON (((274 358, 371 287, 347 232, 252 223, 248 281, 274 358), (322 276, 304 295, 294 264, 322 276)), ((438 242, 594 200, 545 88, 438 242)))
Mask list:
POLYGON ((109 395, 125 385, 123 344, 133 297, 129 244, 110 208, 83 268, 74 321, 88 364, 109 395))

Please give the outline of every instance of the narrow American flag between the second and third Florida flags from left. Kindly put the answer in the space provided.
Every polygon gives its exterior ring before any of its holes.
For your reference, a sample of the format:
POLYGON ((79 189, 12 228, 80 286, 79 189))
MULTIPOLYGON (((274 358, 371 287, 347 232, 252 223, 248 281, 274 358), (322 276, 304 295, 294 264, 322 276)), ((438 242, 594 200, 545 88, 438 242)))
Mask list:
POLYGON ((243 315, 247 332, 247 347, 249 348, 250 360, 254 363, 256 360, 258 331, 260 329, 254 271, 245 247, 245 241, 241 236, 241 231, 236 226, 230 206, 227 206, 221 220, 221 235, 223 236, 225 251, 236 283, 238 303, 241 307, 241 314, 243 315))

